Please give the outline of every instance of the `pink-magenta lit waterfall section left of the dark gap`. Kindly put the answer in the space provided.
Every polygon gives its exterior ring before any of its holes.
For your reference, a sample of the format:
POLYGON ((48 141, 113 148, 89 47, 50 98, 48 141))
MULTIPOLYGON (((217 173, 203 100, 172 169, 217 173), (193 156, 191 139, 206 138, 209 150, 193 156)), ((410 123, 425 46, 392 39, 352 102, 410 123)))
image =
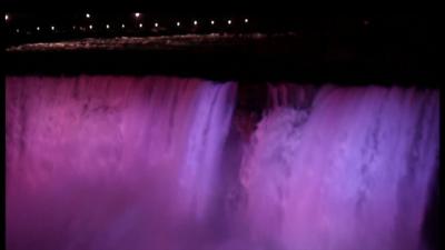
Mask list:
POLYGON ((190 243, 217 199, 235 93, 198 79, 8 78, 8 249, 190 243))

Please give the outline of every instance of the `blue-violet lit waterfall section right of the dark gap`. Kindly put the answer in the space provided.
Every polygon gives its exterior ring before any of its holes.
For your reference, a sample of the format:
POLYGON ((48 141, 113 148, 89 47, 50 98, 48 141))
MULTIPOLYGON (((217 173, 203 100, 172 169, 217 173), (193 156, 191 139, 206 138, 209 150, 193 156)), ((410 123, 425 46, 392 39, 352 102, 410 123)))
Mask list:
POLYGON ((419 249, 438 167, 438 93, 279 84, 243 163, 250 237, 270 249, 419 249), (294 97, 289 99, 288 97, 294 97))

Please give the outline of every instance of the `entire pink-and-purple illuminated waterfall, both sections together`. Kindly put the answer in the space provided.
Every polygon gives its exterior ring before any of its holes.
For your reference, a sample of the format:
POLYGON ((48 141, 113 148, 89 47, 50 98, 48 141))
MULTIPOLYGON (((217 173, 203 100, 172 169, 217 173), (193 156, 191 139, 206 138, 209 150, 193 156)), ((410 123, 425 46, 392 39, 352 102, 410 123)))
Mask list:
POLYGON ((423 249, 438 92, 7 78, 7 248, 423 249), (254 123, 255 126, 255 123, 254 123))

